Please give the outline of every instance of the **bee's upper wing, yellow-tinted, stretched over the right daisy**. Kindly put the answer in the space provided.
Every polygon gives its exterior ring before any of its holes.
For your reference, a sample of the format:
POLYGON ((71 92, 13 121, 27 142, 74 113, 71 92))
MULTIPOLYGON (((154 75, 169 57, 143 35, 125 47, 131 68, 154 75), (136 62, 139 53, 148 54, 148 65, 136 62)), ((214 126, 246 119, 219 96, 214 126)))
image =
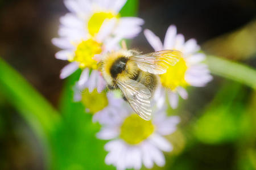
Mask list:
POLYGON ((177 50, 160 50, 159 52, 132 56, 130 59, 135 61, 142 71, 152 74, 164 74, 169 66, 174 66, 182 56, 177 50))

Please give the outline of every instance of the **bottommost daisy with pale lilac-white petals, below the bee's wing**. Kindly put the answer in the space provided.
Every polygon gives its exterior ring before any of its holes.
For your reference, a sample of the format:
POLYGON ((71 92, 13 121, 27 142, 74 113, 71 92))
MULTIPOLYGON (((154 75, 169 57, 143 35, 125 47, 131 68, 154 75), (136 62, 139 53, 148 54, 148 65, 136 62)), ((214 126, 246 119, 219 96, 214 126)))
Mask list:
POLYGON ((172 145, 165 135, 176 130, 179 117, 166 116, 166 108, 158 109, 151 121, 135 114, 127 103, 117 109, 112 121, 105 122, 97 138, 110 140, 105 145, 108 151, 105 163, 117 169, 141 169, 142 165, 152 168, 165 164, 163 151, 172 151, 172 145))

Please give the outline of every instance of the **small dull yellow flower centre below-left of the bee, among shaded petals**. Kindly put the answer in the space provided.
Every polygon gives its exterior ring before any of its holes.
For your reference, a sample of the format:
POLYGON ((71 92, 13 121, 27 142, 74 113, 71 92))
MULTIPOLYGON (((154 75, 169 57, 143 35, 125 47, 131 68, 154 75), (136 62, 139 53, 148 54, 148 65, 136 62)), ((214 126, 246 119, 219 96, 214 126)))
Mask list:
POLYGON ((108 98, 106 96, 106 92, 98 93, 96 89, 94 89, 91 93, 88 88, 86 88, 82 92, 82 104, 85 105, 86 108, 89 109, 90 113, 96 113, 101 111, 106 106, 108 106, 108 98))

